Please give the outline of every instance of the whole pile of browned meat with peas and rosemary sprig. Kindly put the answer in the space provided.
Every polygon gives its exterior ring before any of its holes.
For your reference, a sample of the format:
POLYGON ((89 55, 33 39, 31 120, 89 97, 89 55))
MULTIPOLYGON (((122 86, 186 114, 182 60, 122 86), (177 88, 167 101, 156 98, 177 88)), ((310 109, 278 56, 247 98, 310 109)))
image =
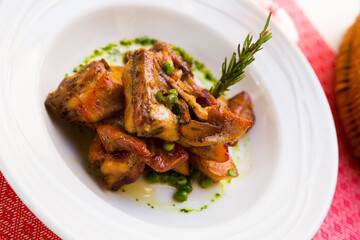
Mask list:
POLYGON ((48 95, 45 106, 60 119, 96 132, 89 162, 100 170, 106 189, 117 191, 144 172, 152 183, 176 186, 174 199, 186 201, 196 181, 207 188, 238 176, 229 147, 253 126, 255 114, 245 91, 228 100, 222 95, 244 78, 245 67, 271 38, 270 16, 256 42, 248 35, 229 63, 225 58, 218 81, 172 44, 145 37, 122 40, 123 46, 151 47, 128 51, 125 66, 88 58, 48 95), (194 67, 214 82, 210 90, 196 83, 194 67))

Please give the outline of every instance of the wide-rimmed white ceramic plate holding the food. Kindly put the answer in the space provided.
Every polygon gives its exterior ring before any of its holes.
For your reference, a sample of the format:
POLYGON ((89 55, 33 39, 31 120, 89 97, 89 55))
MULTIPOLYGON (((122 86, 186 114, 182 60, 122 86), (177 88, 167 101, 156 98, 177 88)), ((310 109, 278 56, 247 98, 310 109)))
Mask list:
POLYGON ((3 1, 1 171, 25 204, 65 239, 310 239, 330 206, 337 142, 320 84, 276 26, 233 92, 257 122, 249 176, 196 214, 164 212, 104 191, 44 108, 65 72, 95 48, 148 35, 184 47, 219 74, 266 15, 246 1, 3 1))

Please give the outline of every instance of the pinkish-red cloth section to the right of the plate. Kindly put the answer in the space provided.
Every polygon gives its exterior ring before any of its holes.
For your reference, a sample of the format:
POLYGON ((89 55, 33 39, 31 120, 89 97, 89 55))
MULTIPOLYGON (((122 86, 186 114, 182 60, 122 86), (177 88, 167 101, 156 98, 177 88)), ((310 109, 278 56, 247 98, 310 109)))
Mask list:
POLYGON ((339 173, 330 210, 313 240, 360 239, 360 168, 351 156, 336 114, 334 96, 335 53, 294 1, 275 0, 293 20, 298 46, 310 62, 333 112, 339 143, 339 173))

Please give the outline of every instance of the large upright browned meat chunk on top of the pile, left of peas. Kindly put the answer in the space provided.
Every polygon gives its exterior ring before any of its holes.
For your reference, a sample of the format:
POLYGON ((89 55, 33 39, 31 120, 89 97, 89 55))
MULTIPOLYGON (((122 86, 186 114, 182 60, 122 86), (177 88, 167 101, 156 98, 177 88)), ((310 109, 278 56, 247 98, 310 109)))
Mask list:
POLYGON ((123 84, 125 89, 125 129, 139 137, 157 137, 166 141, 179 139, 175 114, 155 95, 169 90, 166 81, 159 78, 154 67, 153 53, 140 48, 128 55, 123 84))

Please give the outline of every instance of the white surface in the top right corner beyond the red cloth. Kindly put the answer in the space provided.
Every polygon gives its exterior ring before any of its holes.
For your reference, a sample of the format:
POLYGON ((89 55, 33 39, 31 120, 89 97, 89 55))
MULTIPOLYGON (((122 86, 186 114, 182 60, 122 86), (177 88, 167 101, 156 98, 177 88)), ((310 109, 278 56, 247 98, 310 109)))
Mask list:
POLYGON ((346 30, 360 14, 360 0, 295 1, 336 52, 346 30))

